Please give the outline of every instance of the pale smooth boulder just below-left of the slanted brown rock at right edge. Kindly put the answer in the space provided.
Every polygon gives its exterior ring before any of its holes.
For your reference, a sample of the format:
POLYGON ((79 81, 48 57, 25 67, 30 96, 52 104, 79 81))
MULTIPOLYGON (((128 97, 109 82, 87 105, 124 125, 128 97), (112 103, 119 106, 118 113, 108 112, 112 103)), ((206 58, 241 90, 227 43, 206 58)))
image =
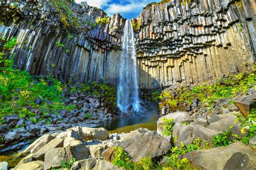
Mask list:
POLYGON ((235 121, 237 120, 237 116, 232 114, 219 115, 220 120, 217 122, 213 122, 207 126, 208 129, 214 130, 215 132, 224 132, 229 129, 230 126, 235 125, 235 121))

